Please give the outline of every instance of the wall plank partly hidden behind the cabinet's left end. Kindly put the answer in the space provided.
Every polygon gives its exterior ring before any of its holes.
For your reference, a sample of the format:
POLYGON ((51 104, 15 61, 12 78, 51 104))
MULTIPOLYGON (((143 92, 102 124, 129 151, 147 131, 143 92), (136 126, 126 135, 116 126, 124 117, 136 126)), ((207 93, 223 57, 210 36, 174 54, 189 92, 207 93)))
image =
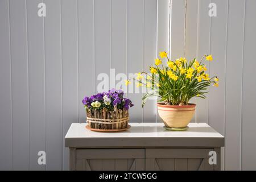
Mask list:
MULTIPOLYGON (((63 137, 73 122, 79 122, 77 1, 61 0, 62 63, 63 63, 63 137)), ((68 169, 68 150, 63 139, 63 169, 68 169)))

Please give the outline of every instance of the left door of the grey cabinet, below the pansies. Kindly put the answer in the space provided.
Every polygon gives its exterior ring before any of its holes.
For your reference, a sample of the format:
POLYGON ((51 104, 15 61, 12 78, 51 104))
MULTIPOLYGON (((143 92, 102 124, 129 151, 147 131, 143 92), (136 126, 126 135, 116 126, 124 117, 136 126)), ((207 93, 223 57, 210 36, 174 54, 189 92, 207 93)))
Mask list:
POLYGON ((77 149, 76 170, 144 170, 144 149, 77 149))

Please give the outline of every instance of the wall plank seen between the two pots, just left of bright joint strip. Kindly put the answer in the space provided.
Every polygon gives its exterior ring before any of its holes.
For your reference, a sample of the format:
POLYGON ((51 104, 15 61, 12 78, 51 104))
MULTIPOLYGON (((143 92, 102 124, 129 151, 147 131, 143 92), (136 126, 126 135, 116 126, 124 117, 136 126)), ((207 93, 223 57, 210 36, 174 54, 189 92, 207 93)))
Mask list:
MULTIPOLYGON (((149 67, 154 65, 156 58, 156 0, 144 1, 144 42, 143 70, 149 73, 149 67)), ((167 51, 167 50, 166 50, 167 51)), ((146 91, 146 88, 144 88, 146 91)), ((148 89, 148 91, 150 91, 148 89)), ((156 121, 156 99, 150 98, 143 107, 143 122, 156 121)))

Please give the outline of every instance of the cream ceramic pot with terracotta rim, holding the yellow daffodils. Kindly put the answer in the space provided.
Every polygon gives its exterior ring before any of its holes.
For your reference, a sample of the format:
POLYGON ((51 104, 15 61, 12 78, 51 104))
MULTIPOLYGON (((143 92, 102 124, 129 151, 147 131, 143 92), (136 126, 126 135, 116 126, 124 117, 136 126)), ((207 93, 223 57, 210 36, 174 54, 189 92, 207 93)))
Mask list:
POLYGON ((158 113, 163 119, 164 125, 168 128, 184 129, 195 114, 196 105, 188 104, 184 106, 158 104, 158 113))

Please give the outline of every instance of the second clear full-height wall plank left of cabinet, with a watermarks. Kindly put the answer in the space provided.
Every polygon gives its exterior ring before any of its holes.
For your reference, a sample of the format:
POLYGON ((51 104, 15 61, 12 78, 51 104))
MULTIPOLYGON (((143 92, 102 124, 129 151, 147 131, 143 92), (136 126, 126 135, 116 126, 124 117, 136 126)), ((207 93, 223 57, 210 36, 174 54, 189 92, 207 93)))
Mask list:
POLYGON ((35 8, 41 0, 27 0, 29 106, 30 106, 30 169, 42 170, 38 152, 46 151, 46 103, 44 62, 44 19, 35 8))

